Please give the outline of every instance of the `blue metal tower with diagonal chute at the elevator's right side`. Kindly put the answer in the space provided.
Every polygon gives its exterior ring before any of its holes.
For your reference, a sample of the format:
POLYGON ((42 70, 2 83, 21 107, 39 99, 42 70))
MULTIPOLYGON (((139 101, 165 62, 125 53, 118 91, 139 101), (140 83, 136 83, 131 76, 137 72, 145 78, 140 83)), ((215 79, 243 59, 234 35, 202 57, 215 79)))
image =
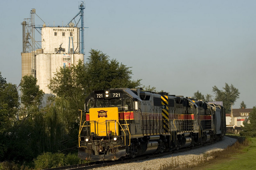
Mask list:
MULTIPOLYGON (((80 28, 81 29, 81 47, 80 47, 80 49, 81 49, 81 53, 84 54, 84 28, 88 28, 88 27, 84 27, 84 9, 85 9, 85 6, 84 6, 83 1, 81 1, 81 4, 78 6, 78 9, 80 11, 76 14, 76 16, 73 19, 71 19, 71 21, 68 24, 70 24, 73 20, 75 21, 75 18, 80 14, 80 19, 78 20, 78 23, 81 20, 81 28, 80 28)), ((75 21, 75 23, 76 23, 76 21, 75 21)), ((76 24, 76 26, 77 26, 77 24, 76 24)))

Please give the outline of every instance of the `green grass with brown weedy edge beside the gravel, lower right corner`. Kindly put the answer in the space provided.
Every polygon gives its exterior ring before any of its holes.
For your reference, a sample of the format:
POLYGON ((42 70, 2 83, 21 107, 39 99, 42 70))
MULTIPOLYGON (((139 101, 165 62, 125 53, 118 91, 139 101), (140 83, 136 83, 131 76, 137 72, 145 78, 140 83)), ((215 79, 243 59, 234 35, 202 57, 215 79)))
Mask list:
POLYGON ((188 163, 179 163, 179 159, 161 165, 159 170, 234 170, 256 169, 256 138, 235 137, 238 141, 226 149, 205 153, 202 157, 193 157, 188 163), (244 140, 242 140, 244 139, 244 140), (192 163, 191 163, 192 162, 192 163))

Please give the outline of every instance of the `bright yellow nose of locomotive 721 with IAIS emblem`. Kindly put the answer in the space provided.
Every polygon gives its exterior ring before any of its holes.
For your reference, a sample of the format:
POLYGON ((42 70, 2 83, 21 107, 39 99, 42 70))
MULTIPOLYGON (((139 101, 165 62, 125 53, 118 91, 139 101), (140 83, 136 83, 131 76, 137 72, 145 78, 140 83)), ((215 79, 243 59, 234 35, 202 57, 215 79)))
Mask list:
POLYGON ((104 107, 104 108, 90 108, 89 110, 90 128, 96 136, 119 135, 118 127, 118 108, 104 107))

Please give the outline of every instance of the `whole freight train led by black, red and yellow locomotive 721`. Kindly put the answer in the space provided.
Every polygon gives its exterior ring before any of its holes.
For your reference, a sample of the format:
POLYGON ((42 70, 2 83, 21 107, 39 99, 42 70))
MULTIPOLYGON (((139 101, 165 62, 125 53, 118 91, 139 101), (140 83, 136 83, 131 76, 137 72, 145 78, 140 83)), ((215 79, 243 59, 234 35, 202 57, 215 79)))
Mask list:
POLYGON ((226 132, 218 104, 141 89, 93 91, 81 111, 78 157, 134 158, 203 145, 226 132))

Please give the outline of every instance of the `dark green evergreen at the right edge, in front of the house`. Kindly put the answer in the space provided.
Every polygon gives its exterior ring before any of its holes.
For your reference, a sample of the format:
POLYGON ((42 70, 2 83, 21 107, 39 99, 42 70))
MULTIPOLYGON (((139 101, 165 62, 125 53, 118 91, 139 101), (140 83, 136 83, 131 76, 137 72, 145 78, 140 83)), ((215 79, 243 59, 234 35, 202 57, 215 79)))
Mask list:
POLYGON ((250 124, 243 123, 244 127, 242 127, 242 131, 240 131, 241 136, 251 136, 256 137, 256 107, 253 106, 252 112, 250 113, 250 124))

